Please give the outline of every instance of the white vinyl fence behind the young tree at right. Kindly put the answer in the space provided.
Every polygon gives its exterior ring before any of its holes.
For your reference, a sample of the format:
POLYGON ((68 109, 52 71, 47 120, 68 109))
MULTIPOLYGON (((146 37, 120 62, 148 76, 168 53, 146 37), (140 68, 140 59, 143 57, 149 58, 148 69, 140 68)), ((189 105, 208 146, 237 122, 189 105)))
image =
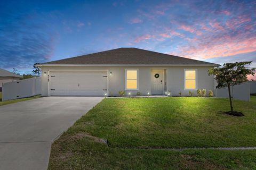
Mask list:
MULTIPOLYGON (((233 90, 230 88, 230 91, 234 99, 250 101, 250 83, 245 82, 235 85, 233 86, 233 90)), ((216 89, 215 96, 228 98, 228 88, 216 89)))

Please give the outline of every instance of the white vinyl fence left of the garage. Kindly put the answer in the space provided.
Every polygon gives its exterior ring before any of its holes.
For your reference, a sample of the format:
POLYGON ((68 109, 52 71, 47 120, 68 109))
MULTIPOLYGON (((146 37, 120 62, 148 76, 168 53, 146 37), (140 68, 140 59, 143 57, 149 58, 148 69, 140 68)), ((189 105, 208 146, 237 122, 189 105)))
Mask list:
POLYGON ((3 83, 2 101, 41 95, 41 78, 3 83))

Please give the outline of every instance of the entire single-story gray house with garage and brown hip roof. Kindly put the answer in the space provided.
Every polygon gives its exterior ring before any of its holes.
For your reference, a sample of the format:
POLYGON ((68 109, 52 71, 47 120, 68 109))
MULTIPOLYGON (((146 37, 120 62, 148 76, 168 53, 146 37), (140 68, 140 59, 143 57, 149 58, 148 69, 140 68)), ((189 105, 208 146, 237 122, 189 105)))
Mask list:
POLYGON ((197 89, 214 91, 207 71, 218 64, 151 52, 117 48, 38 64, 42 96, 188 95, 197 89))

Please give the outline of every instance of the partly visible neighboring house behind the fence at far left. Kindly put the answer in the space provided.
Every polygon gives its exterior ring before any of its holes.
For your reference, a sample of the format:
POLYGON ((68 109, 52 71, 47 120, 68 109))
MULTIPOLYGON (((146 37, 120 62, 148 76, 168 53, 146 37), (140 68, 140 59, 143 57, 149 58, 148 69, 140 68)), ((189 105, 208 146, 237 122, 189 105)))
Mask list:
POLYGON ((22 78, 21 75, 14 74, 10 71, 4 70, 0 68, 0 91, 2 91, 2 84, 10 81, 19 80, 22 78))

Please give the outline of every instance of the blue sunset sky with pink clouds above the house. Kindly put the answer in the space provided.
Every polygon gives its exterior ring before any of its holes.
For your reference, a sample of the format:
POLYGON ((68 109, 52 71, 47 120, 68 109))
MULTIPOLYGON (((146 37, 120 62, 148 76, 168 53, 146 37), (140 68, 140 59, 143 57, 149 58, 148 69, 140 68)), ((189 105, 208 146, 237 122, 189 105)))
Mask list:
POLYGON ((0 2, 4 69, 119 47, 256 67, 256 1, 0 2))

